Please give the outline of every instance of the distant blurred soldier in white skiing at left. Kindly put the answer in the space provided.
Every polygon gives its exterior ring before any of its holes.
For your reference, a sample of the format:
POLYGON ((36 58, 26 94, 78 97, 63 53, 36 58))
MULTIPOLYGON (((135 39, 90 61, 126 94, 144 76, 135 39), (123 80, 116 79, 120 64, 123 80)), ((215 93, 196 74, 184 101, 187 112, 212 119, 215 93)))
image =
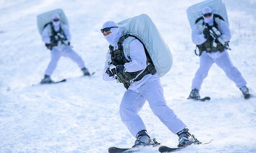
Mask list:
POLYGON ((70 47, 71 35, 68 26, 61 22, 59 14, 53 14, 51 23, 45 26, 42 31, 42 40, 46 43, 46 47, 51 50, 51 61, 46 68, 41 83, 53 83, 50 76, 61 56, 69 57, 77 63, 84 75, 90 75, 82 58, 70 47))

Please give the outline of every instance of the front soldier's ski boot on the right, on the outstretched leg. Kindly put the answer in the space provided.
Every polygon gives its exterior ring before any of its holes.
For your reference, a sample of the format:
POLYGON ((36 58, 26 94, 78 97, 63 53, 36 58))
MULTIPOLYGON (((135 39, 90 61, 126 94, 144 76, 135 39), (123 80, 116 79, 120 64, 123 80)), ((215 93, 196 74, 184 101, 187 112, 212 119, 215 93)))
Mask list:
POLYGON ((180 132, 177 133, 177 135, 179 136, 179 144, 178 147, 186 147, 189 146, 191 144, 200 144, 201 142, 198 141, 195 136, 192 134, 190 134, 188 132, 187 128, 184 128, 183 130, 181 130, 180 132))

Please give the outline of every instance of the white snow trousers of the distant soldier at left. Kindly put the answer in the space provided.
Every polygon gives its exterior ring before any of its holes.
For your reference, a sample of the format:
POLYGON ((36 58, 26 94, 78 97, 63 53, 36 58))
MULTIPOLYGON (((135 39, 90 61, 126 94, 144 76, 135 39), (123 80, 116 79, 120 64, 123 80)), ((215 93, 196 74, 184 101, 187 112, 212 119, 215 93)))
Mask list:
POLYGON ((61 49, 58 49, 58 47, 53 47, 51 50, 51 61, 46 68, 44 73, 45 75, 53 74, 53 71, 55 70, 61 56, 69 57, 72 59, 72 61, 77 63, 79 68, 85 67, 82 58, 69 45, 64 45, 61 49))

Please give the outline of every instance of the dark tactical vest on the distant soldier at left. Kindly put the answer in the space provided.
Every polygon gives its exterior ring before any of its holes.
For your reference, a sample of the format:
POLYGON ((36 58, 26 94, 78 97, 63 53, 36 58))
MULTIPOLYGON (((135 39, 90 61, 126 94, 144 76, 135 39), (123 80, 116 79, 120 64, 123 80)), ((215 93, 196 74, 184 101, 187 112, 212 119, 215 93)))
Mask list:
MULTIPOLYGON (((59 33, 59 35, 63 35, 64 38, 67 39, 67 37, 66 37, 64 31, 62 30, 61 26, 60 26, 60 30, 59 30, 59 31, 55 31, 55 30, 54 30, 54 27, 53 27, 53 23, 51 23, 51 22, 50 22, 50 23, 47 23, 47 24, 44 26, 44 28, 45 28, 48 24, 51 26, 51 39, 55 39, 55 36, 57 36, 58 38, 60 38, 60 37, 58 36, 58 33, 59 33)), ((70 45, 70 44, 68 44, 68 45, 70 45)), ((52 50, 54 46, 58 46, 58 41, 55 42, 55 43, 53 43, 53 42, 51 42, 51 43, 46 43, 46 47, 47 47, 48 49, 50 49, 50 50, 52 50)))

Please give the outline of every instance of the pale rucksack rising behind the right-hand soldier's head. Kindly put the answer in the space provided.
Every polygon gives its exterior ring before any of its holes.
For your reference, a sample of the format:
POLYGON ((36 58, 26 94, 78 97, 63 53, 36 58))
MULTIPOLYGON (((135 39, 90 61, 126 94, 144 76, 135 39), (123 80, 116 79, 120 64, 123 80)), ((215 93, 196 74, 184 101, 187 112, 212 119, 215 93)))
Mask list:
POLYGON ((207 6, 209 6, 214 12, 214 17, 223 19, 228 24, 228 15, 223 0, 207 0, 192 5, 187 9, 188 20, 191 28, 193 28, 198 21, 203 19, 202 9, 207 6))

